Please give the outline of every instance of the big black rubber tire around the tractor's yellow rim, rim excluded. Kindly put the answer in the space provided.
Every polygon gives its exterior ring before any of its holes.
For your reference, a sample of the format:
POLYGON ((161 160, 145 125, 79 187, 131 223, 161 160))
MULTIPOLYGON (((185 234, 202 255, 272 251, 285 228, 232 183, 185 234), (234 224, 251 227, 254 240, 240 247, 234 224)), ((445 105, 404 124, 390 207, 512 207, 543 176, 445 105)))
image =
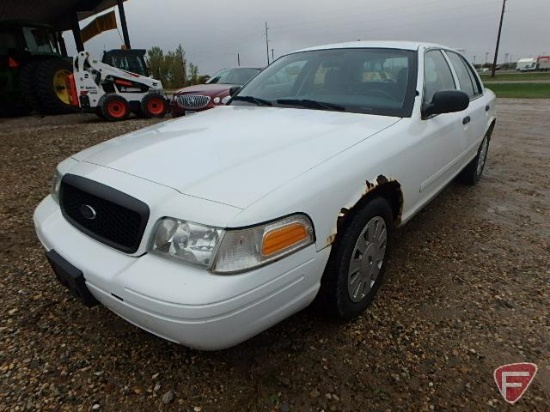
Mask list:
POLYGON ((69 62, 61 59, 49 59, 40 62, 35 70, 35 88, 43 114, 73 113, 70 103, 60 99, 54 87, 54 77, 59 71, 72 72, 69 62))

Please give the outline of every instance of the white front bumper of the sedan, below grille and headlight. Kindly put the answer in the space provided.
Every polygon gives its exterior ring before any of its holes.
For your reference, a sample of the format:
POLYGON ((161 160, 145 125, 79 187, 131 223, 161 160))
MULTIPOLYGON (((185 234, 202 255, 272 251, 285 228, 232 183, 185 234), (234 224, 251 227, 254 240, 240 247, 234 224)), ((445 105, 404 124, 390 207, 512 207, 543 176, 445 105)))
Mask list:
POLYGON ((330 252, 312 245, 254 271, 221 276, 103 245, 70 225, 50 196, 34 223, 44 247, 81 270, 103 305, 164 339, 205 350, 236 345, 309 305, 330 252))

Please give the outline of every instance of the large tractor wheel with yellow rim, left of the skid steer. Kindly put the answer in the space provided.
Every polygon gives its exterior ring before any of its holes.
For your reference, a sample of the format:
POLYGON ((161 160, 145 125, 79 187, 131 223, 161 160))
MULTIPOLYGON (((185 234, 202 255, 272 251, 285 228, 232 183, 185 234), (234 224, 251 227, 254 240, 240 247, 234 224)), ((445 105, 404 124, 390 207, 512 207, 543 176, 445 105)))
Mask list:
POLYGON ((69 62, 48 59, 35 69, 35 89, 43 114, 66 114, 74 112, 69 100, 68 76, 72 73, 69 62))

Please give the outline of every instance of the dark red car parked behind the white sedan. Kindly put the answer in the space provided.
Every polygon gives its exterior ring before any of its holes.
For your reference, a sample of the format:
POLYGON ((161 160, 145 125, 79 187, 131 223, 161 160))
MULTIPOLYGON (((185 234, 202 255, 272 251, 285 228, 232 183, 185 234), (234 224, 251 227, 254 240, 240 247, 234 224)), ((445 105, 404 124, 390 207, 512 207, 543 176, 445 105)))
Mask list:
POLYGON ((174 93, 170 101, 172 117, 184 116, 227 103, 229 90, 242 86, 256 76, 262 69, 254 67, 235 67, 222 69, 205 84, 184 87, 174 93))

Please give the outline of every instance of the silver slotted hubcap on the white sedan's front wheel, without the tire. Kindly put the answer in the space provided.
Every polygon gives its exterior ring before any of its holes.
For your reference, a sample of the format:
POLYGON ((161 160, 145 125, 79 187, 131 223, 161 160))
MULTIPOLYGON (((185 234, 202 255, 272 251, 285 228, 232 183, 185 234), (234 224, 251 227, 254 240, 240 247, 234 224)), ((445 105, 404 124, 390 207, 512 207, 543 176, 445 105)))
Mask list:
POLYGON ((386 254, 388 232, 380 216, 369 220, 353 249, 348 271, 348 294, 352 302, 360 302, 373 287, 386 254))

